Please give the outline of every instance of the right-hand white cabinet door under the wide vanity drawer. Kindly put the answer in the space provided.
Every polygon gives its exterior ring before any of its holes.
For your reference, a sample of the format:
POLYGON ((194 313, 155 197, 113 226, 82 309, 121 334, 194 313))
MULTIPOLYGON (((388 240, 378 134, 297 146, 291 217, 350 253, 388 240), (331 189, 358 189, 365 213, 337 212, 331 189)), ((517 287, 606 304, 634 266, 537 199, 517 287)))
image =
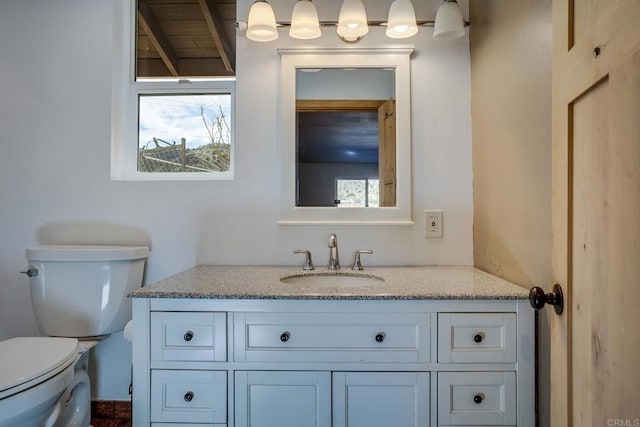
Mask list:
POLYGON ((333 427, 428 427, 428 372, 334 372, 333 427))

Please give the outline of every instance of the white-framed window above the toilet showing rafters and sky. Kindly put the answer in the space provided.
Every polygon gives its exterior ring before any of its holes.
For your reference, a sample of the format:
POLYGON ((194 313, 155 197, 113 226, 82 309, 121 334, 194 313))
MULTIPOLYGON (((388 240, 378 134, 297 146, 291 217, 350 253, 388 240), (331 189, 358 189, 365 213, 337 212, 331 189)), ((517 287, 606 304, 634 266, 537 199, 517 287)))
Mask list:
POLYGON ((112 179, 233 179, 235 0, 113 4, 112 179))

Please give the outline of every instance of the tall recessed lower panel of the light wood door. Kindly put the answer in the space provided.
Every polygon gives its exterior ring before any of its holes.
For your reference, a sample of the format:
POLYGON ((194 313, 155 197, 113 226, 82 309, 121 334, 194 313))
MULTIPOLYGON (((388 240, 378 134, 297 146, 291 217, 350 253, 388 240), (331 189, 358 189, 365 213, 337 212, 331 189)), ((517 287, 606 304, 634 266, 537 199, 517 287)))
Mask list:
POLYGON ((630 327, 640 324, 640 132, 632 123, 640 120, 638 72, 640 51, 572 109, 572 390, 579 425, 640 415, 629 397, 640 391, 640 335, 630 327))

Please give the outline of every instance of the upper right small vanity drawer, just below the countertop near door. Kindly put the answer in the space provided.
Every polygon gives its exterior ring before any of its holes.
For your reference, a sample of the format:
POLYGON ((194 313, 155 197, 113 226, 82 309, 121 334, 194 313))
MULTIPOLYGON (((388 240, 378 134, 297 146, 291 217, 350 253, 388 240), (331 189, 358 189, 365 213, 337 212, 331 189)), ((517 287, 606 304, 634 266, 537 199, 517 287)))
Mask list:
POLYGON ((438 362, 515 363, 515 313, 439 313, 438 362))

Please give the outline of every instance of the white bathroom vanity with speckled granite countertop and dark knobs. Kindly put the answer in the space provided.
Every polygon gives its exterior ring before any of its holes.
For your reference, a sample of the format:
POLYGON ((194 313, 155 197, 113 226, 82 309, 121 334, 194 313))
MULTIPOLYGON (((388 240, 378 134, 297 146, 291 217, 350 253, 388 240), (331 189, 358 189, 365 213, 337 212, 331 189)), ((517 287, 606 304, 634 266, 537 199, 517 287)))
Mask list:
POLYGON ((472 267, 198 266, 131 296, 134 426, 535 425, 527 290, 472 267))

